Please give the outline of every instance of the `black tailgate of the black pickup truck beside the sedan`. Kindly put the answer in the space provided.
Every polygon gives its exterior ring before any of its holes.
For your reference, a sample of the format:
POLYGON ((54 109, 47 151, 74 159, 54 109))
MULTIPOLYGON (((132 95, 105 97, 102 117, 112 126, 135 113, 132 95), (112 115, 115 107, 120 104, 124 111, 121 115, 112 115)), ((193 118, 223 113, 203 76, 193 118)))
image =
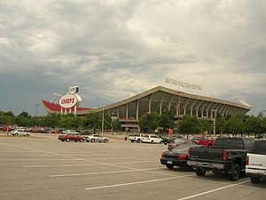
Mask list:
POLYGON ((223 149, 221 148, 190 148, 192 160, 222 161, 223 149))

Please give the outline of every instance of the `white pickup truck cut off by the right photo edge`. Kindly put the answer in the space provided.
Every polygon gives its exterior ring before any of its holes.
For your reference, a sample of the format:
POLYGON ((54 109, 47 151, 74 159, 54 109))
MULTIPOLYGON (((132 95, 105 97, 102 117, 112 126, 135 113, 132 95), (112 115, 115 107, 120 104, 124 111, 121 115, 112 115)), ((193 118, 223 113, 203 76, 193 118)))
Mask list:
POLYGON ((266 178, 266 140, 254 140, 246 155, 246 175, 252 183, 266 178))

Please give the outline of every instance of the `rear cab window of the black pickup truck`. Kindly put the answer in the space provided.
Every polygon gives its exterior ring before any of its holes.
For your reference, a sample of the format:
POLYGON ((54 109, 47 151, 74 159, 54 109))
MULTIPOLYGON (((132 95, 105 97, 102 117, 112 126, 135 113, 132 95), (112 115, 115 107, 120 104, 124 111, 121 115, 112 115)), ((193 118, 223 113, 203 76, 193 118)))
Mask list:
POLYGON ((244 148, 241 138, 217 138, 214 148, 244 148))

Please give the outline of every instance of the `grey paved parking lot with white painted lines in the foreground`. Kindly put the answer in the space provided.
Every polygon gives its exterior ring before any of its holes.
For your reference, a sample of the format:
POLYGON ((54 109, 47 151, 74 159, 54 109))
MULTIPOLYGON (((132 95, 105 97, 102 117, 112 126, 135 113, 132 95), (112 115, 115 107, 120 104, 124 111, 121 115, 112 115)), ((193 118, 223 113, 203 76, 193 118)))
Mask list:
POLYGON ((110 140, 61 142, 56 137, 0 137, 0 199, 265 199, 252 184, 208 172, 198 177, 160 164, 162 144, 110 140))

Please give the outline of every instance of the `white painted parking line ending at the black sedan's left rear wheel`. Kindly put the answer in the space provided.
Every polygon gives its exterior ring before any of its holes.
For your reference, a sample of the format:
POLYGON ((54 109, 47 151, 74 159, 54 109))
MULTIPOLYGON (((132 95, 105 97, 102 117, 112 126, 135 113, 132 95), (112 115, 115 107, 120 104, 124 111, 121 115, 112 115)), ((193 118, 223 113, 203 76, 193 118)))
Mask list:
MULTIPOLYGON (((90 173, 68 173, 68 174, 59 174, 59 175, 49 175, 49 177, 67 177, 67 176, 83 176, 83 175, 98 175, 98 174, 108 174, 108 173, 122 173, 122 172, 143 172, 150 170, 159 170, 160 168, 149 168, 149 169, 131 169, 131 170, 123 170, 123 171, 110 171, 110 172, 90 172, 90 173)), ((164 168, 163 168, 164 169, 164 168)))

